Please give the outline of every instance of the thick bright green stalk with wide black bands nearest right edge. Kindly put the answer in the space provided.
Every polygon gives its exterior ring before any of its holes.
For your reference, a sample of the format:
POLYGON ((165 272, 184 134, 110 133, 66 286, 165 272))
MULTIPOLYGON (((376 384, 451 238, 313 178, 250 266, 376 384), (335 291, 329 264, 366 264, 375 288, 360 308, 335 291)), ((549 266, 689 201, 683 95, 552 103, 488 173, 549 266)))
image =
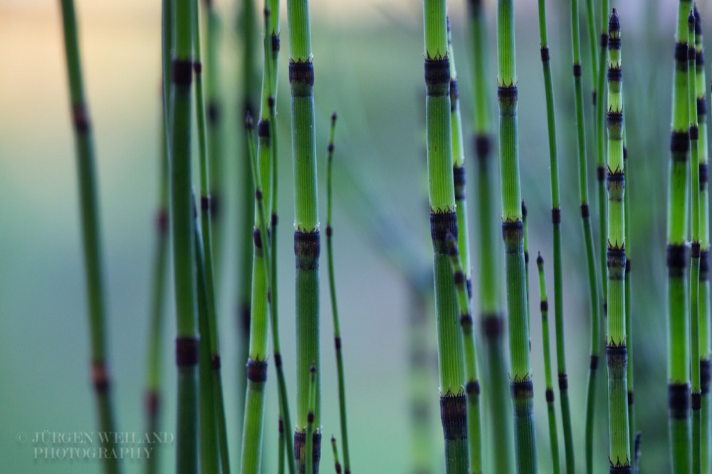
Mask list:
POLYGON ((687 14, 681 1, 676 27, 672 130, 667 206, 668 402, 671 467, 688 473, 691 462, 690 354, 687 289, 687 218, 689 213, 689 100, 687 93, 687 14))

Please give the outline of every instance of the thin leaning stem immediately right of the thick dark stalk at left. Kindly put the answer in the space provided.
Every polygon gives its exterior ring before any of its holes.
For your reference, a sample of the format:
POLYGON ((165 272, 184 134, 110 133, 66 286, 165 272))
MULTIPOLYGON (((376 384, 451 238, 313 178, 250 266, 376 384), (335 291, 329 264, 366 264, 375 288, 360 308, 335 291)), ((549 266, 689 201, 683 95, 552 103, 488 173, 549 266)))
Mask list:
MULTIPOLYGON (((214 202, 210 194, 211 183, 210 183, 210 163, 211 159, 209 156, 209 143, 208 143, 208 130, 207 130, 207 108, 204 102, 204 91, 203 91, 203 80, 202 80, 202 51, 201 51, 201 34, 200 34, 200 14, 198 8, 198 2, 193 2, 193 21, 194 25, 194 74, 195 74, 195 96, 196 96, 196 112, 197 112, 197 127, 198 127, 198 148, 199 148, 199 170, 200 170, 200 188, 201 188, 201 198, 200 198, 200 227, 201 230, 197 233, 197 236, 201 236, 201 245, 197 247, 197 251, 202 253, 202 265, 204 268, 198 268, 199 277, 200 272, 203 272, 203 278, 205 280, 205 311, 207 324, 204 329, 207 330, 205 333, 201 330, 201 335, 207 335, 209 339, 209 366, 208 369, 208 383, 211 385, 206 391, 203 390, 204 381, 201 380, 201 399, 204 395, 210 397, 209 401, 202 401, 201 404, 209 403, 209 409, 211 410, 211 421, 209 423, 209 430, 211 432, 211 438, 215 438, 215 433, 217 433, 217 445, 219 446, 220 463, 225 472, 230 470, 230 460, 227 446, 227 426, 225 421, 225 407, 223 403, 222 394, 222 375, 220 372, 220 349, 218 341, 217 332, 217 317, 216 317, 216 297, 215 288, 216 283, 214 281, 214 258, 213 258, 213 234, 212 234, 212 218, 214 214, 214 202)), ((199 260, 198 263, 201 263, 199 260)), ((202 289, 200 287, 198 291, 202 289)), ((200 294, 199 294, 200 296, 200 294)), ((200 305, 199 305, 200 306, 200 305)), ((201 314, 199 312, 199 318, 201 314)), ((201 337, 201 340, 205 340, 201 337)), ((201 346, 204 344, 201 343, 201 346)), ((200 366, 201 378, 202 378, 202 364, 200 366)), ((204 423, 204 416, 201 415, 201 424, 204 423)), ((215 441, 215 439, 213 440, 215 441)), ((203 442, 201 438, 201 443, 203 442)), ((212 453, 212 451, 211 451, 212 453)), ((216 464, 217 468, 218 465, 216 464)))

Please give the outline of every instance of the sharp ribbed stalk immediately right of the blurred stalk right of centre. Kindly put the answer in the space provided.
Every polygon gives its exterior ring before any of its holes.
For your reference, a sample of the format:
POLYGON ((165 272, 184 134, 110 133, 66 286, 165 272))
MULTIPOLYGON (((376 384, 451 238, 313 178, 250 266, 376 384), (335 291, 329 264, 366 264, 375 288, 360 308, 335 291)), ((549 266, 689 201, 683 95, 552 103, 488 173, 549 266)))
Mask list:
POLYGON ((524 279, 523 224, 517 137, 517 74, 514 51, 514 2, 498 0, 498 98, 502 233, 507 278, 511 393, 517 471, 537 472, 533 381, 529 357, 529 325, 524 279))

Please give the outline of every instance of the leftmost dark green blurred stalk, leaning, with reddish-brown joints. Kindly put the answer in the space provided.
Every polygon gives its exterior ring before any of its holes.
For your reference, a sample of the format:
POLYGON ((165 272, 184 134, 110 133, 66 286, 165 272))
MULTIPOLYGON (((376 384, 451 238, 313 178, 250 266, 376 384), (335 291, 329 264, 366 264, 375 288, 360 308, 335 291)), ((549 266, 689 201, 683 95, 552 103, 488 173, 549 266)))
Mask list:
MULTIPOLYGON (((84 92, 79 53, 78 27, 73 0, 62 0, 64 50, 67 60, 70 110, 74 128, 79 183, 79 204, 84 252, 84 270, 89 320, 91 379, 97 402, 98 428, 115 431, 110 376, 107 362, 103 265, 100 240, 99 203, 96 191, 94 143, 88 103, 84 92)), ((102 448, 112 451, 112 436, 102 448)), ((106 473, 119 472, 117 458, 105 458, 106 473)))

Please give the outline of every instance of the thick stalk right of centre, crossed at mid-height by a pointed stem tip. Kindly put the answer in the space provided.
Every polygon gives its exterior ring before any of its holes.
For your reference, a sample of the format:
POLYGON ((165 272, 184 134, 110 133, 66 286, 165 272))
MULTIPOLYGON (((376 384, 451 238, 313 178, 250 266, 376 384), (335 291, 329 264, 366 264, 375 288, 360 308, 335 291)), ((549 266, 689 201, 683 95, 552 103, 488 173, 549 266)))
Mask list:
POLYGON ((452 162, 450 63, 446 2, 424 0, 425 85, 430 235, 433 243, 435 312, 438 332, 440 417, 445 472, 466 473, 467 420, 462 332, 446 236, 458 235, 452 162))

